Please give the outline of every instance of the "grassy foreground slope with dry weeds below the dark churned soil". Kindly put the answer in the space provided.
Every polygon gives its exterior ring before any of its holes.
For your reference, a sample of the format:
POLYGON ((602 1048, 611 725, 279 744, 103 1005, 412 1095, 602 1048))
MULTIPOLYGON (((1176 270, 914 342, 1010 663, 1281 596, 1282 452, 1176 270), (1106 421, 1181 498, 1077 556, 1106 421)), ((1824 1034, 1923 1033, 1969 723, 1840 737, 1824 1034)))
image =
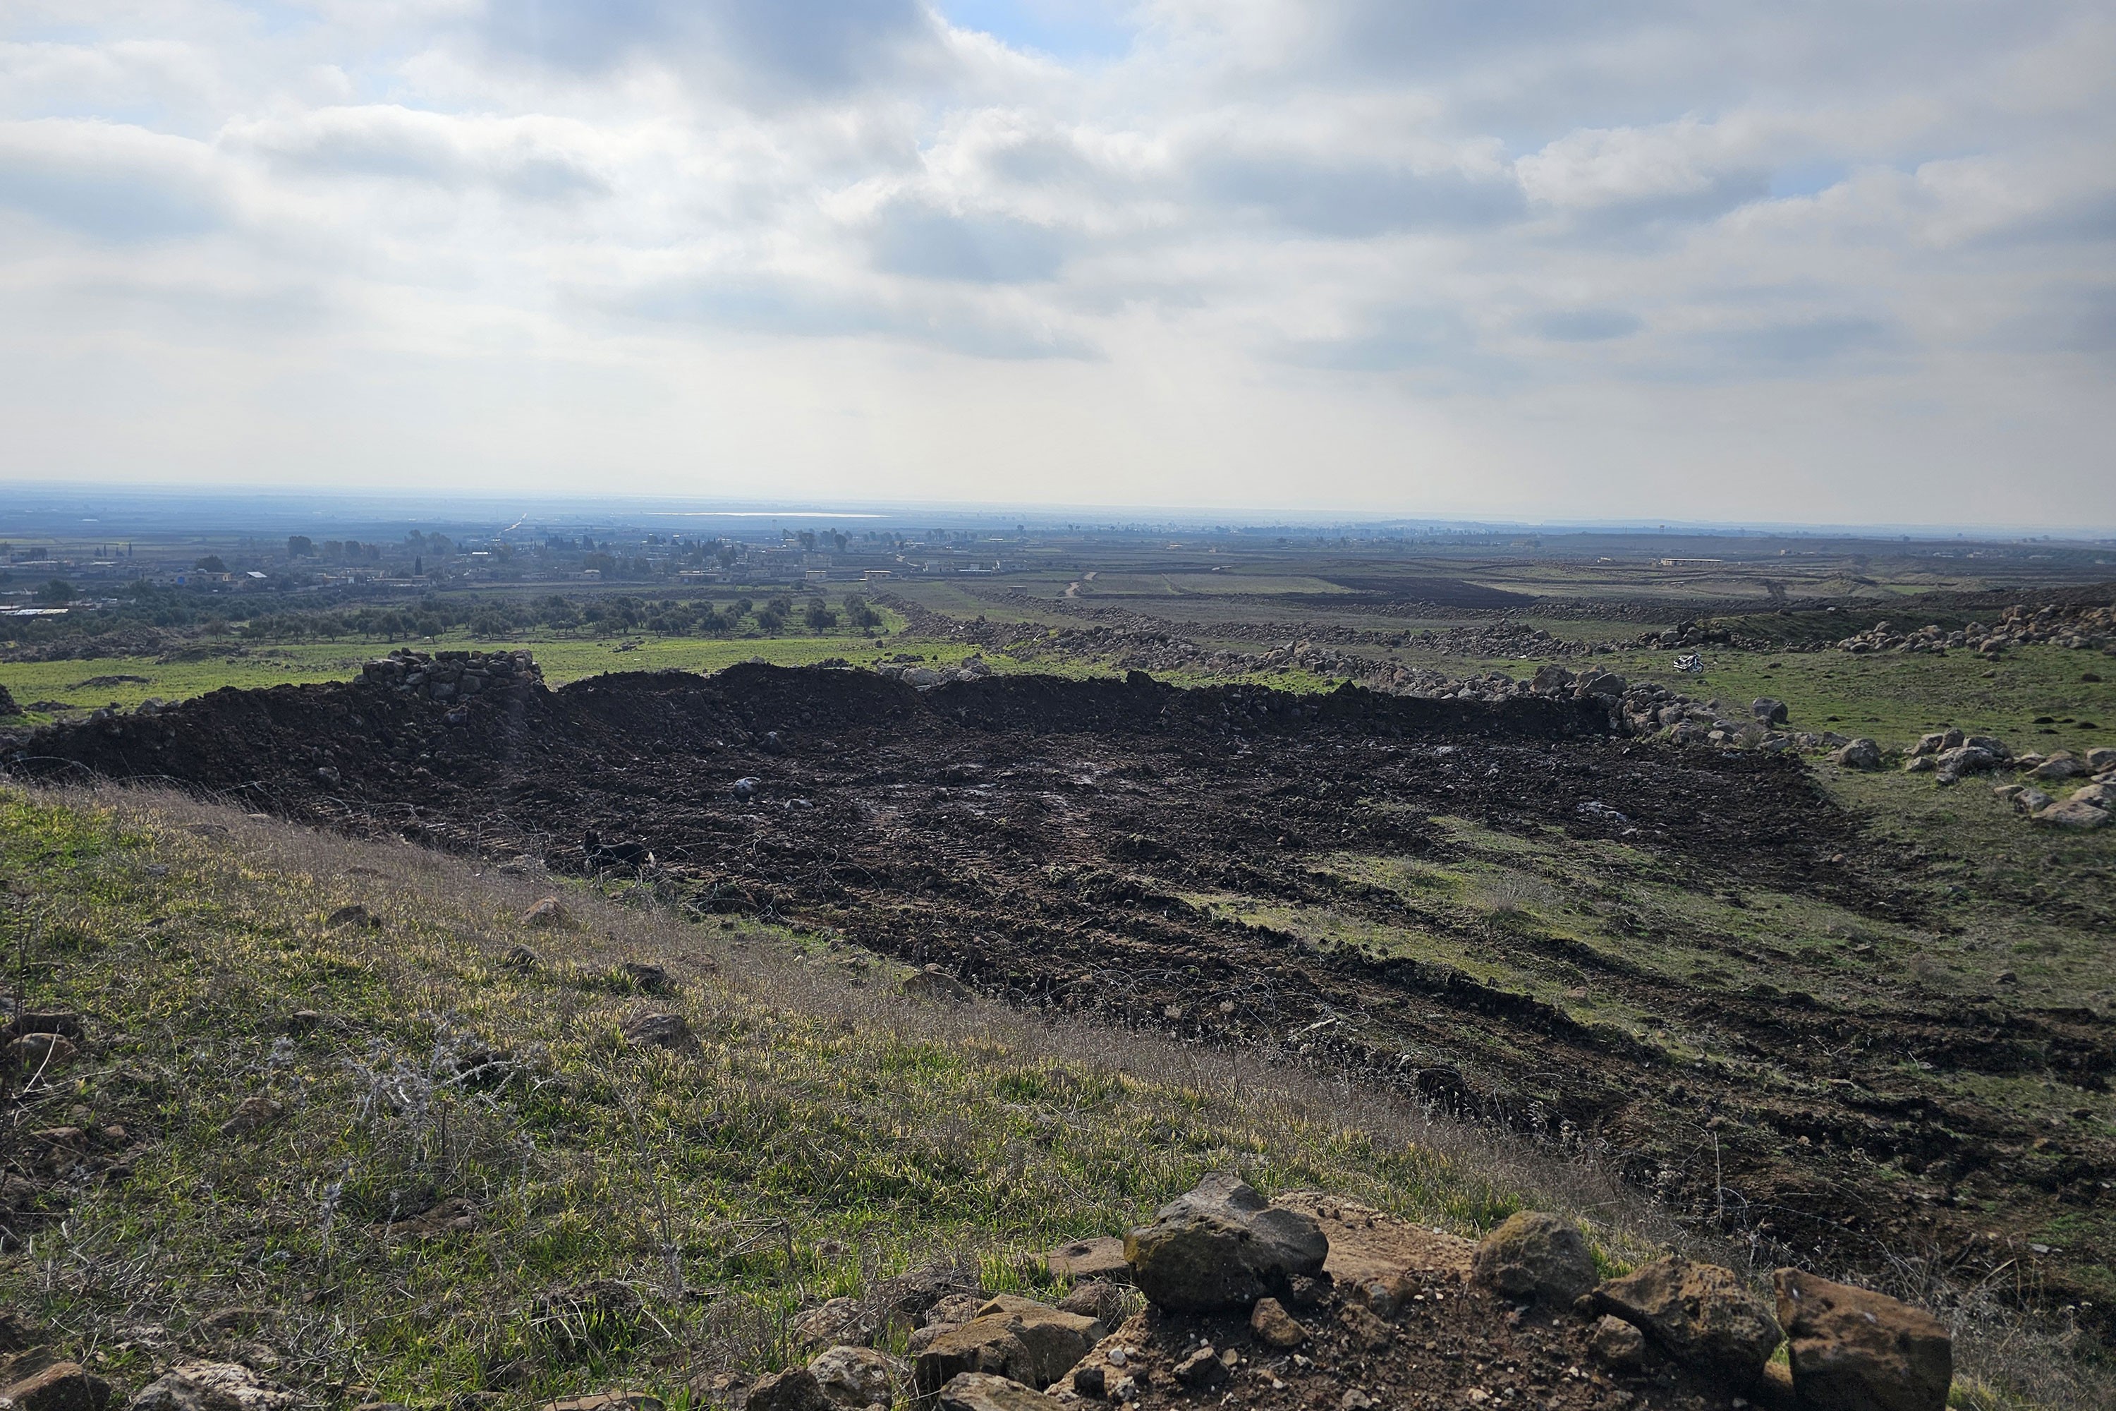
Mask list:
POLYGON ((0 1305, 125 1388, 235 1354, 347 1405, 681 1400, 783 1360, 798 1307, 929 1259, 1035 1288, 1024 1257, 1229 1166, 1458 1231, 1585 1210, 1612 1259, 1644 1248, 1589 1172, 1329 1075, 906 1001, 832 937, 641 893, 17 789, 0 880, 8 988, 87 1028, 6 1113, 38 1193, 11 1187, 0 1305), (525 922, 548 893, 565 920, 525 922), (696 1047, 626 1043, 647 1009, 696 1047), (279 1115, 224 1132, 252 1098, 279 1115))

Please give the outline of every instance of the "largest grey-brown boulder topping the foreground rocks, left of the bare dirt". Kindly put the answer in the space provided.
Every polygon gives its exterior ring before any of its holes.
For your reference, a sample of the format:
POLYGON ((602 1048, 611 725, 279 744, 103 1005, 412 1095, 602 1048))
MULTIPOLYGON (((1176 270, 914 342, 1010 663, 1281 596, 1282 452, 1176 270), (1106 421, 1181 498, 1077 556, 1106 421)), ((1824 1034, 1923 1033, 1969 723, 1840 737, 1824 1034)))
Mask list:
POLYGON ((1248 1183, 1212 1174, 1124 1238, 1132 1280, 1179 1312, 1244 1307, 1295 1276, 1322 1271, 1329 1242, 1314 1216, 1270 1206, 1248 1183))

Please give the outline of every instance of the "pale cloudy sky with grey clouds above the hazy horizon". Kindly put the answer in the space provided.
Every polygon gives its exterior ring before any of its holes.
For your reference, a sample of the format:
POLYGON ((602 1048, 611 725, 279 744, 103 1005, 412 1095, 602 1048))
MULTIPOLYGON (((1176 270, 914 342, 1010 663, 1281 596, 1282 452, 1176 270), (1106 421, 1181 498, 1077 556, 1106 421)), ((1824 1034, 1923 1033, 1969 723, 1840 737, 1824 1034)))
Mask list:
POLYGON ((0 482, 2108 531, 2110 74, 2105 0, 0 0, 0 482))

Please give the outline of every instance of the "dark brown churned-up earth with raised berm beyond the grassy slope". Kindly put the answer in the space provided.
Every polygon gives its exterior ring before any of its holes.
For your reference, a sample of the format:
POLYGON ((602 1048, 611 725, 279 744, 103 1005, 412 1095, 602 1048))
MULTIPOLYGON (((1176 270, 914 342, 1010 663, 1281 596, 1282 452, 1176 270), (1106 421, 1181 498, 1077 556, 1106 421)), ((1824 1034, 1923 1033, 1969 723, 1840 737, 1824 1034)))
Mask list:
MULTIPOLYGON (((406 677, 461 662, 400 660, 47 728, 0 759, 19 778, 174 783, 322 827, 639 876, 696 914, 823 931, 1016 1005, 1346 1070, 1598 1151, 1731 1235, 1847 1271, 1909 1254, 1974 1278, 2008 1259, 1985 1235, 1993 1195, 2031 1225, 2099 1204, 2116 1176, 2084 1134, 1900 1079, 1917 1053, 1942 1073, 2101 1089, 2116 1032, 2086 1009, 1913 994, 1877 1015, 1686 986, 1536 927, 1469 937, 1528 969, 1591 971, 1648 1013, 1708 1015, 1720 1045, 1788 1075, 1765 1089, 1449 965, 1316 946, 1193 901, 1462 929, 1422 912, 1416 888, 1329 863, 1445 865, 1460 844, 1441 819, 1466 819, 1621 840, 1691 888, 1915 918, 1900 884, 1915 863, 1877 857, 1792 757, 1627 740, 1595 700, 1179 690, 1143 673, 920 692, 762 664, 552 692, 525 658, 493 662, 470 662, 482 690, 449 700, 406 677)), ((2078 1259, 2053 1254, 2036 1299, 2088 1293, 2091 1250, 2078 1259)))

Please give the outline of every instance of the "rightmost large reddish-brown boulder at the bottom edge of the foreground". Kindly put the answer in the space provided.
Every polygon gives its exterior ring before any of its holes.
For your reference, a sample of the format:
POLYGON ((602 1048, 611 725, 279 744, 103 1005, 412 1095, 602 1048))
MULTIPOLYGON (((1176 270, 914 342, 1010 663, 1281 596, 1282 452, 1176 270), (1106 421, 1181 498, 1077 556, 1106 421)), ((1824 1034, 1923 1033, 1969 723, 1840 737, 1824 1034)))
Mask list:
POLYGON ((1777 1271, 1792 1392, 1813 1411, 1942 1411, 1953 1341, 1923 1309, 1887 1295, 1777 1271))

